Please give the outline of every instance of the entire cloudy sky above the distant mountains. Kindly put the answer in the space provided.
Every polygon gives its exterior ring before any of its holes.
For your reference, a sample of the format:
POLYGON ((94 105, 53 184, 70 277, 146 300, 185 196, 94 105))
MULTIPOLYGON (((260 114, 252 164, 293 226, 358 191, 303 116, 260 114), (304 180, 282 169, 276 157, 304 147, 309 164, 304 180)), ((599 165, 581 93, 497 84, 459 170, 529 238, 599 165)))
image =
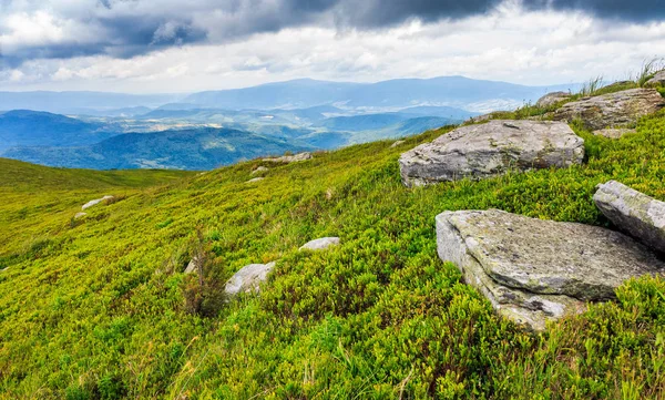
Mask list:
POLYGON ((665 0, 0 0, 0 91, 551 85, 628 79, 663 57, 665 0))

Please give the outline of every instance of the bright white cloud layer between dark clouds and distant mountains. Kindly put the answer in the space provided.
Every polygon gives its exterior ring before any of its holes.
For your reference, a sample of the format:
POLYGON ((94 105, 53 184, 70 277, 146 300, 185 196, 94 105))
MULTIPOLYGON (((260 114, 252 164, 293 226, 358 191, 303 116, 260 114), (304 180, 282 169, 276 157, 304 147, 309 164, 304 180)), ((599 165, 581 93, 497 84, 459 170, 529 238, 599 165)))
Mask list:
MULTIPOLYGON (((44 17, 41 23, 31 21, 27 37, 35 42, 68 32, 44 17)), ((178 29, 163 27, 155 40, 172 39, 178 29)), ((598 74, 625 79, 658 55, 665 55, 665 22, 607 23, 580 12, 525 12, 505 3, 487 16, 431 24, 409 21, 371 31, 289 28, 132 59, 32 60, 19 68, 22 84, 4 74, 0 89, 191 92, 295 78, 371 82, 456 74, 548 85, 598 74)))

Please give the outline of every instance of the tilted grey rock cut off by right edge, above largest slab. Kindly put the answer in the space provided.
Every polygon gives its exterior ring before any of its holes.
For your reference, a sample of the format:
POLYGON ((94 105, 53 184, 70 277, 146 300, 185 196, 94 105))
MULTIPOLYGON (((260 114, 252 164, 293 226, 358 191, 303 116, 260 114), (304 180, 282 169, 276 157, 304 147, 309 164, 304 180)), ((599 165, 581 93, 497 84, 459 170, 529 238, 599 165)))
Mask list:
POLYGON ((665 253, 665 203, 616 181, 598 185, 593 201, 620 229, 665 253))

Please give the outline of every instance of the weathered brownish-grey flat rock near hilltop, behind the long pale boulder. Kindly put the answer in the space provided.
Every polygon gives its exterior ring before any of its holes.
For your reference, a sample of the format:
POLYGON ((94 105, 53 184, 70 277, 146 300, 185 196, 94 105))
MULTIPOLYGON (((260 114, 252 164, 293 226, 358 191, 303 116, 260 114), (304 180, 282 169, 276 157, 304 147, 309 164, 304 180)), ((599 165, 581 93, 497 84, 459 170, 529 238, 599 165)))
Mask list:
POLYGON ((640 117, 655 113, 663 106, 665 99, 656 90, 631 89, 566 103, 552 117, 567 122, 581 119, 586 127, 595 131, 634 124, 640 117))

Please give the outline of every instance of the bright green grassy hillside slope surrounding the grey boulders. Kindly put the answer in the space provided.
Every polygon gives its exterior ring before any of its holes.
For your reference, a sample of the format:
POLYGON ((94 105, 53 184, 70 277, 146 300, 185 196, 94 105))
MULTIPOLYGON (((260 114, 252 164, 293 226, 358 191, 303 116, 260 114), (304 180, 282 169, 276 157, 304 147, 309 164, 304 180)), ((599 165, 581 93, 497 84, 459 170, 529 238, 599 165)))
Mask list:
POLYGON ((490 207, 605 225, 592 194, 610 178, 665 199, 665 116, 618 141, 577 130, 584 166, 405 188, 399 154, 443 132, 265 164, 255 184, 259 162, 127 189, 75 224, 78 206, 110 189, 74 185, 29 199, 27 214, 23 192, 6 189, 17 197, 0 203, 0 398, 665 396, 663 279, 627 283, 616 302, 532 335, 437 258, 433 230, 442 211, 490 207), (23 225, 40 239, 27 245, 23 225), (215 318, 185 311, 196 226, 221 279, 279 260, 260 297, 215 318), (297 252, 327 235, 342 246, 297 252))

